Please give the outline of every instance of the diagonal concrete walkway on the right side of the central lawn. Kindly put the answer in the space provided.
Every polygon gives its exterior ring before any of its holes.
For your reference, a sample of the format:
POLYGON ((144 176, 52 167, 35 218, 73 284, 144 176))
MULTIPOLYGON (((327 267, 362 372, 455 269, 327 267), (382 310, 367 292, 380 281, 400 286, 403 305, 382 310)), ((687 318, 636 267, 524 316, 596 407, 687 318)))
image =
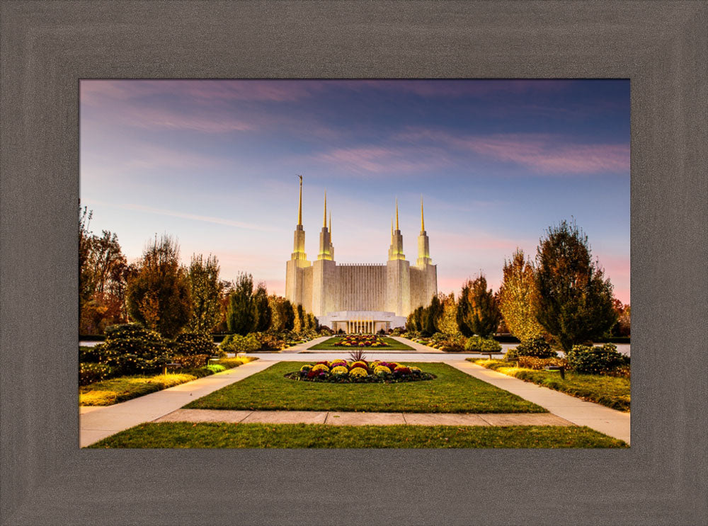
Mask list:
POLYGON ((518 394, 523 399, 538 404, 567 421, 577 425, 587 425, 588 428, 593 428, 610 437, 619 438, 629 444, 629 413, 610 409, 594 402, 586 402, 548 387, 524 382, 472 362, 450 360, 447 364, 481 379, 483 382, 492 384, 494 387, 518 394))

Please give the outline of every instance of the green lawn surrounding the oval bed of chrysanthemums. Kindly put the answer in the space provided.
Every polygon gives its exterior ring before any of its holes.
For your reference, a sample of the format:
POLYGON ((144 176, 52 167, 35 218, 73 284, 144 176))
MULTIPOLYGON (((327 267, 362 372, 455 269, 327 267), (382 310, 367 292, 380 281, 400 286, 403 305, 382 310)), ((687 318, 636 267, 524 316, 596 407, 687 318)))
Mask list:
POLYGON ((396 384, 331 384, 283 377, 306 362, 279 362, 185 408, 410 413, 547 413, 520 396, 443 363, 405 362, 437 378, 396 384))

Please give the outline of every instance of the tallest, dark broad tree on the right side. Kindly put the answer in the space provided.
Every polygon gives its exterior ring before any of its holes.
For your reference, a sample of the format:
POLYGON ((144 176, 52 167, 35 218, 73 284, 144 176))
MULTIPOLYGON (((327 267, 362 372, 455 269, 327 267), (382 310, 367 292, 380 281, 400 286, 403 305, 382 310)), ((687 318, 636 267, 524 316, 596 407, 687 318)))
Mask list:
POLYGON ((566 353, 617 322, 612 284, 590 258, 588 236, 573 222, 549 227, 536 255, 537 320, 566 353))

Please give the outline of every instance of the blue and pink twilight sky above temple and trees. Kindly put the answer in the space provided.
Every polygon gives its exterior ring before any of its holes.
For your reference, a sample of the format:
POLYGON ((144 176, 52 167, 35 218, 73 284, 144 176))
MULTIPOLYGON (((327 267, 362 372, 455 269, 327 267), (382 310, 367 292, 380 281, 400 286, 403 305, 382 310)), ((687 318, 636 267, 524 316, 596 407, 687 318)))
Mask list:
POLYGON ((176 236, 284 294, 303 176, 306 252, 324 193, 338 263, 385 263, 395 200, 415 264, 420 200, 438 290, 497 290, 562 220, 629 303, 628 80, 86 80, 81 205, 132 262, 176 236))

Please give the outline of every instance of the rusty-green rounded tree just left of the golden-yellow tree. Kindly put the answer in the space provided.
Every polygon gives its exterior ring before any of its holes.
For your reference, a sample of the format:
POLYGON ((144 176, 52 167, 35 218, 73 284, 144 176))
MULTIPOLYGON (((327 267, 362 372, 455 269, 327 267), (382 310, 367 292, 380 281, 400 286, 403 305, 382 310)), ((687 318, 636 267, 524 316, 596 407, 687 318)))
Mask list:
POLYGON ((491 336, 499 325, 501 312, 491 289, 487 290, 484 274, 474 281, 467 281, 462 287, 462 295, 457 306, 460 332, 464 336, 476 334, 482 338, 491 336), (460 315, 462 310, 462 315, 460 315))

